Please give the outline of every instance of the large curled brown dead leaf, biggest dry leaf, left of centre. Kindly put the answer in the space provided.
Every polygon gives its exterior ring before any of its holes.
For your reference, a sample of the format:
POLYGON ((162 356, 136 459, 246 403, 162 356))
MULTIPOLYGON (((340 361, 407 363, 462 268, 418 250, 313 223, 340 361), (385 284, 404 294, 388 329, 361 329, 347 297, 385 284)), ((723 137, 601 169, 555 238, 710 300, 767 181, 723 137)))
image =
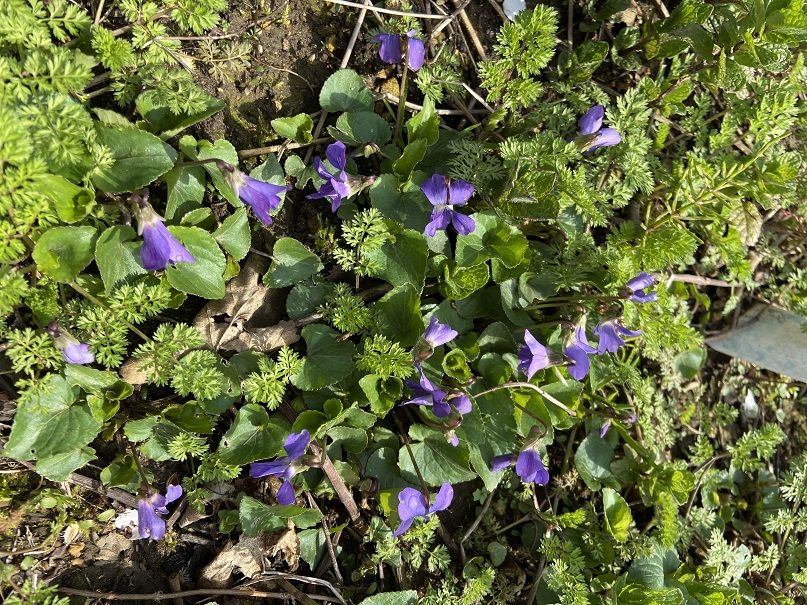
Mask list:
POLYGON ((263 285, 263 264, 249 257, 224 298, 208 302, 193 320, 214 349, 267 352, 300 339, 294 322, 277 322, 285 312, 285 294, 263 285))

